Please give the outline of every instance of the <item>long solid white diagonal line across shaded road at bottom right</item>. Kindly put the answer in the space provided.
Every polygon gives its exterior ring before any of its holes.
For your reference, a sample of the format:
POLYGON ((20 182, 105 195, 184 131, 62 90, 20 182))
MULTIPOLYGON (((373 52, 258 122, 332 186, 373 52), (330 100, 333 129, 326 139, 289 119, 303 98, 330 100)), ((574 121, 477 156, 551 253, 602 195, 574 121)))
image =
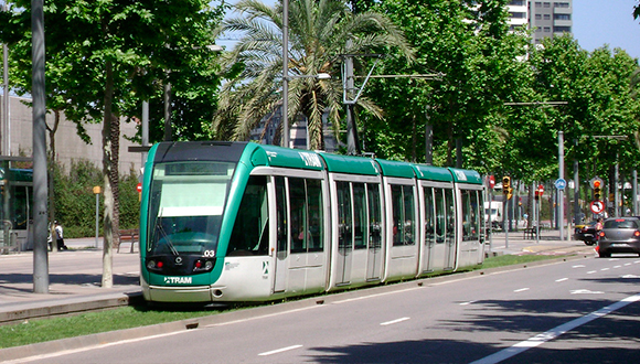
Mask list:
POLYGON ((512 356, 521 354, 531 347, 535 347, 535 346, 538 346, 538 345, 541 345, 550 340, 554 340, 557 336, 566 333, 567 331, 574 330, 575 328, 584 325, 585 323, 588 323, 590 321, 599 319, 606 314, 609 314, 616 310, 623 308, 625 306, 627 306, 629 303, 637 302, 637 301, 640 301, 640 293, 636 295, 636 296, 627 297, 626 299, 618 301, 611 306, 604 307, 604 308, 601 308, 597 311, 594 311, 589 314, 586 314, 582 318, 577 318, 577 319, 572 320, 567 323, 561 324, 559 326, 551 329, 547 332, 543 332, 541 334, 537 334, 529 340, 521 341, 511 347, 506 347, 504 350, 499 351, 498 353, 491 354, 489 356, 484 356, 478 361, 472 362, 471 364, 500 363, 500 362, 505 361, 512 356))

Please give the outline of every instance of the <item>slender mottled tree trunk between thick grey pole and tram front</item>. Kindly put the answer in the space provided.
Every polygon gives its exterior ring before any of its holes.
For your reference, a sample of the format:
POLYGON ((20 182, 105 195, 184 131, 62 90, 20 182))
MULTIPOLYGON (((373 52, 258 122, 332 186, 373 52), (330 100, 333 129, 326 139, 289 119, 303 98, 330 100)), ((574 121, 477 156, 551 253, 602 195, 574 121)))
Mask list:
POLYGON ((114 237, 114 193, 111 186, 111 103, 114 97, 114 68, 111 61, 106 65, 105 119, 103 125, 103 181, 105 184, 105 216, 103 246, 103 288, 114 287, 113 237, 114 237))

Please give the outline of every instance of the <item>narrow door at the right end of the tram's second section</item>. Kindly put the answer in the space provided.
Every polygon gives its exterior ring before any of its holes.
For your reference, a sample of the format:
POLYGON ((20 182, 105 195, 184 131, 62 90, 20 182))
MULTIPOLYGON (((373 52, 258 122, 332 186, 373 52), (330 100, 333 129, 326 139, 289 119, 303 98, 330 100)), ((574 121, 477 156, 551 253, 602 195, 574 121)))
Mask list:
POLYGON ((382 272, 382 203, 380 185, 366 184, 366 202, 369 212, 369 248, 366 259, 366 280, 380 279, 382 272))

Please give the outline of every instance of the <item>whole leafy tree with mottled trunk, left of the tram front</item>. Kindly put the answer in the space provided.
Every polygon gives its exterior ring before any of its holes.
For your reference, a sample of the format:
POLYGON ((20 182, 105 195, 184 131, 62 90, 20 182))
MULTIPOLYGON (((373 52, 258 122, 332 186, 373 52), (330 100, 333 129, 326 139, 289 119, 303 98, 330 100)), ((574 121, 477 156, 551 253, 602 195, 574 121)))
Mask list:
MULTIPOLYGON (((19 49, 29 44, 25 40, 30 3, 20 0, 15 4, 11 14, 2 14, 4 26, 0 26, 2 39, 10 40, 19 49)), ((47 78, 47 95, 61 95, 49 99, 58 101, 67 119, 78 125, 103 122, 103 287, 113 285, 120 118, 131 116, 134 105, 156 95, 163 83, 180 79, 182 71, 212 78, 213 54, 206 46, 214 43, 212 30, 221 15, 221 8, 213 10, 203 0, 161 3, 152 0, 54 0, 45 8, 46 53, 54 60, 49 63, 46 76, 53 76, 47 78)), ((20 58, 17 63, 15 72, 30 75, 29 58, 20 58)))

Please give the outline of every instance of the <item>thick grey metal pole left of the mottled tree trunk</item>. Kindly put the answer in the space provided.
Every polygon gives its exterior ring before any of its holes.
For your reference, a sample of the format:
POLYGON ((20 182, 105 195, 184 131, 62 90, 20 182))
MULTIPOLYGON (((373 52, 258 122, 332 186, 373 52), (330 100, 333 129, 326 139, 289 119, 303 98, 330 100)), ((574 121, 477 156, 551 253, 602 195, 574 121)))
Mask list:
POLYGON ((43 2, 44 0, 31 1, 31 28, 33 32, 33 291, 35 293, 49 293, 43 2))

